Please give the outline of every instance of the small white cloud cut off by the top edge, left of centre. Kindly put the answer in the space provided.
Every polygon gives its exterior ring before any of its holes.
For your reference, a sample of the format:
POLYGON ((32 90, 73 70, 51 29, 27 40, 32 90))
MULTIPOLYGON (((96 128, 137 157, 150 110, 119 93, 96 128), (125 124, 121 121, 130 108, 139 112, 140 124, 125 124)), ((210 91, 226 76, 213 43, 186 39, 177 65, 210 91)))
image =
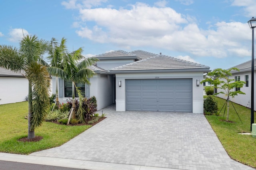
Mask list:
POLYGON ((94 6, 100 6, 102 2, 108 0, 69 0, 61 2, 67 9, 81 9, 81 8, 92 8, 94 6))

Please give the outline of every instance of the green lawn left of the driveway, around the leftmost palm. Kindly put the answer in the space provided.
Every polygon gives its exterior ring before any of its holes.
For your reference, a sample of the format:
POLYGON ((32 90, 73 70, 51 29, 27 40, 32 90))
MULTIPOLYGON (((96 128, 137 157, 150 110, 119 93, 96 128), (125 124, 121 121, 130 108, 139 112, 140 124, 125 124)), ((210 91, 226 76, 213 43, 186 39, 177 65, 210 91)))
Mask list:
POLYGON ((18 139, 28 136, 28 102, 0 105, 0 152, 30 154, 60 146, 91 125, 66 126, 44 122, 36 128, 36 136, 42 136, 39 142, 19 142, 18 139))

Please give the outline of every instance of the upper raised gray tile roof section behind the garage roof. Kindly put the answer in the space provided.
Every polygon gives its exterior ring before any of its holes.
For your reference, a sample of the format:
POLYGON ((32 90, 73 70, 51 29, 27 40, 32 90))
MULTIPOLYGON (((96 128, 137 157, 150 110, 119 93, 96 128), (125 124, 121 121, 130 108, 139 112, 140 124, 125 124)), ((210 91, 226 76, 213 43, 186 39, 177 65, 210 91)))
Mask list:
POLYGON ((123 51, 123 50, 111 51, 108 53, 95 55, 93 57, 98 58, 100 60, 109 60, 109 59, 136 59, 136 60, 139 60, 140 59, 137 55, 123 51))

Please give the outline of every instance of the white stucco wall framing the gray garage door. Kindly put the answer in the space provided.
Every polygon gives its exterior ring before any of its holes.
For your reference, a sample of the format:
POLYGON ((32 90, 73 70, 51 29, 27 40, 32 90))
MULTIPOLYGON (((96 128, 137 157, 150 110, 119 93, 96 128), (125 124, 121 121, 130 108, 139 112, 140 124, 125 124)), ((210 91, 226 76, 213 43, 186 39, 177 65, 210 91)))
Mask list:
POLYGON ((193 100, 193 113, 204 112, 203 102, 203 85, 199 83, 196 86, 196 80, 199 82, 203 80, 203 72, 183 72, 183 73, 129 73, 129 74, 116 74, 116 111, 125 111, 126 107, 126 92, 125 80, 126 79, 182 79, 192 78, 192 100, 193 100), (122 86, 118 86, 118 81, 122 82, 122 86))

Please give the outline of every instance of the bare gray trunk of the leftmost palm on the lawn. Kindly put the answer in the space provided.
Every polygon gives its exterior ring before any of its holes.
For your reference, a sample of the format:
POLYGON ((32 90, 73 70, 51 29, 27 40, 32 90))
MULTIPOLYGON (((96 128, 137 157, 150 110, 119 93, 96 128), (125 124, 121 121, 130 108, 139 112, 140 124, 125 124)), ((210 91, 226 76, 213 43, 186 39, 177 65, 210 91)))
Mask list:
POLYGON ((35 137, 35 131, 31 131, 30 121, 32 117, 32 83, 28 82, 28 139, 32 139, 35 137))

